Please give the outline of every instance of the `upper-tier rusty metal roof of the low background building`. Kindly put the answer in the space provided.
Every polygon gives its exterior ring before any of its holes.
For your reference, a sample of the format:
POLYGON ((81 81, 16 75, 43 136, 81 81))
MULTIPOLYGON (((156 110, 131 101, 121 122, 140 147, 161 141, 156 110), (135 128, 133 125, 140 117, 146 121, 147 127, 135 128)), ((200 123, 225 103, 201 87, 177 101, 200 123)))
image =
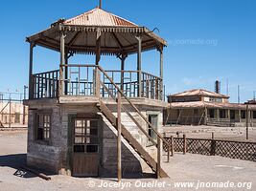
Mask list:
POLYGON ((228 98, 229 96, 224 96, 221 94, 217 94, 214 92, 210 92, 207 90, 202 90, 202 89, 195 89, 195 90, 190 90, 182 93, 178 93, 172 96, 215 96, 215 97, 222 97, 222 98, 228 98))

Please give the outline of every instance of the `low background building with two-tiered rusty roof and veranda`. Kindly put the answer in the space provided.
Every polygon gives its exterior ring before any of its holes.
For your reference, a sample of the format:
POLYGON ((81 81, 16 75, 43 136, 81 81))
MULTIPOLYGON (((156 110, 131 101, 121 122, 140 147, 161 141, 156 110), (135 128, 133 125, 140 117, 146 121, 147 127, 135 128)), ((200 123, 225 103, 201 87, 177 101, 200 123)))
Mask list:
MULTIPOLYGON (((179 125, 245 126, 246 105, 229 103, 229 96, 207 90, 190 90, 168 96, 164 123, 179 125)), ((249 105, 250 126, 256 126, 256 105, 249 105)))

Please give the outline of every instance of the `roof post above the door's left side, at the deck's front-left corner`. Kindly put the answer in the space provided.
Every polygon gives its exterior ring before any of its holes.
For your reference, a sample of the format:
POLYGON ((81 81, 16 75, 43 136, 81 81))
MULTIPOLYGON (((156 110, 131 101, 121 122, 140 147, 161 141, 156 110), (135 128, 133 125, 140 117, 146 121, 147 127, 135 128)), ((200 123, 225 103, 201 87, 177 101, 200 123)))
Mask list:
POLYGON ((59 82, 58 96, 63 95, 63 65, 65 64, 65 34, 60 32, 60 64, 59 64, 59 82))

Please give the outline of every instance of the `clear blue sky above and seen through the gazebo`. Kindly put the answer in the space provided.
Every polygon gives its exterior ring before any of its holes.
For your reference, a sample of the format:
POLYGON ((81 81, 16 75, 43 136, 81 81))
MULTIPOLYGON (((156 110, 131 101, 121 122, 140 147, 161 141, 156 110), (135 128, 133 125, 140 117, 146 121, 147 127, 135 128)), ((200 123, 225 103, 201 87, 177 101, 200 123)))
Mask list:
MULTIPOLYGON (((0 91, 21 90, 28 84, 29 45, 25 37, 47 29, 58 18, 70 18, 98 5, 98 0, 44 0, 1 2, 0 91)), ((169 46, 164 52, 166 92, 203 88, 214 90, 221 80, 221 93, 229 82, 230 100, 252 98, 256 91, 255 0, 103 0, 103 8, 149 29, 169 46)), ((127 61, 135 69, 135 56, 127 61)), ((35 48, 35 72, 58 69, 59 54, 35 48)), ((143 54, 143 70, 159 74, 156 52, 143 54)), ((73 62, 92 63, 93 57, 78 56, 73 62)), ((119 68, 115 57, 104 57, 105 68, 119 68)))

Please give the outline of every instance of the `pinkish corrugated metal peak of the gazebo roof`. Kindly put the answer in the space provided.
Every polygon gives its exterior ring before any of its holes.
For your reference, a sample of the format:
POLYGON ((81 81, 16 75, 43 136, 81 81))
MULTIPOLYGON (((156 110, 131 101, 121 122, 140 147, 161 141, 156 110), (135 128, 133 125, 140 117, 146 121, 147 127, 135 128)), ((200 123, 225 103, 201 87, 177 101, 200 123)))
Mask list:
POLYGON ((96 8, 64 21, 66 25, 138 27, 132 22, 110 12, 96 8))

